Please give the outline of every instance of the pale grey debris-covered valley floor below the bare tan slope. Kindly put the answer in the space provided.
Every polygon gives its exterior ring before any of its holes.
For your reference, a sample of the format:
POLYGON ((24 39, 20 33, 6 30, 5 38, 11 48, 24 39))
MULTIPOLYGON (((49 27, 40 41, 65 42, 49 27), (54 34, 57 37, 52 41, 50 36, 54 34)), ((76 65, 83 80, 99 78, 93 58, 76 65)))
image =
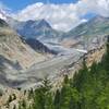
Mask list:
POLYGON ((26 72, 21 72, 17 75, 15 74, 17 81, 24 81, 24 84, 21 84, 19 87, 24 88, 25 86, 26 88, 29 88, 34 85, 37 86, 37 82, 45 78, 46 76, 52 78, 59 75, 65 65, 76 62, 80 57, 84 55, 83 52, 78 52, 76 50, 73 50, 72 52, 73 53, 71 55, 57 56, 47 61, 36 63, 26 72))

